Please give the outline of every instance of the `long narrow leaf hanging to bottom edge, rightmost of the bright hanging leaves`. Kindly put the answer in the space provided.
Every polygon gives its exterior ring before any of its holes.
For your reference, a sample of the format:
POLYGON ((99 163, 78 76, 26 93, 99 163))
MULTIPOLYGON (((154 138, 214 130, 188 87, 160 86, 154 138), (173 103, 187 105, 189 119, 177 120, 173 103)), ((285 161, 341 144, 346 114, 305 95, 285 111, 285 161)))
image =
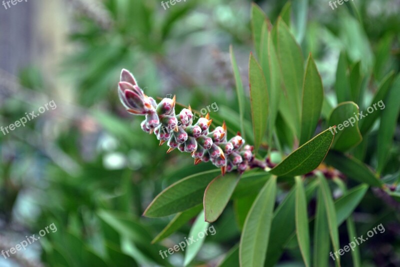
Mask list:
MULTIPOLYGON (((330 240, 334 251, 339 250, 339 232, 336 220, 336 211, 334 209, 332 195, 330 194, 328 183, 325 177, 318 175, 319 187, 322 193, 323 203, 325 204, 326 217, 328 221, 330 240)), ((340 266, 340 258, 336 260, 340 266)))

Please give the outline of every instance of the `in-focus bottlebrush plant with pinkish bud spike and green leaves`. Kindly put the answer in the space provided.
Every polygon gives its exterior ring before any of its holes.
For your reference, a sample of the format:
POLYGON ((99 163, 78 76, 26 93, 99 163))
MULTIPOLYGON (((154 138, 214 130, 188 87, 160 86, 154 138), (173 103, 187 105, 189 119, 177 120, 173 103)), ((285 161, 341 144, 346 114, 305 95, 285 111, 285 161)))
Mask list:
MULTIPOLYGON (((230 138, 225 122, 214 127, 209 114, 193 121, 190 106, 176 111, 175 96, 157 103, 122 70, 119 98, 127 112, 145 117, 141 129, 154 134, 160 145, 166 143, 167 153, 177 148, 190 153, 194 164, 210 161, 221 172, 192 174, 155 197, 144 216, 174 218, 153 243, 195 215, 190 234, 202 231, 232 200, 240 240, 220 266, 274 266, 293 248, 291 257, 301 258, 306 267, 341 266, 341 253, 333 254, 333 260, 329 255, 364 233, 357 231, 352 214, 368 189, 398 208, 398 149, 390 148, 400 111, 400 76, 375 71, 368 57, 343 50, 333 91, 324 88, 312 54, 299 45, 305 23, 290 28, 290 10, 286 4, 272 23, 252 6, 249 99, 230 47, 240 128, 230 138), (277 194, 284 197, 277 199, 277 194), (339 240, 344 222, 346 236, 339 240)), ((355 18, 348 21, 358 23, 355 18)), ((379 60, 377 64, 385 64, 379 60)), ((201 244, 187 248, 185 266, 201 244)), ((347 265, 361 266, 360 248, 349 254, 347 265)))

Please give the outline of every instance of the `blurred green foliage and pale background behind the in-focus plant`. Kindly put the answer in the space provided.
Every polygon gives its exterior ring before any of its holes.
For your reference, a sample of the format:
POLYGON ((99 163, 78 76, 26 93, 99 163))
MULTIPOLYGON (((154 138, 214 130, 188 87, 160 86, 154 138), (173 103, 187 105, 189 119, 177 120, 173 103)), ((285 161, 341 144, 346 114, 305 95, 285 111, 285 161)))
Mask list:
MULTIPOLYGON (((286 3, 256 2, 271 21, 286 3)), ((362 77, 372 74, 372 79, 362 81, 372 88, 362 96, 364 107, 377 82, 391 70, 398 73, 400 67, 400 1, 353 3, 332 10, 328 1, 309 0, 306 20, 301 4, 293 1, 291 7, 296 39, 303 54, 312 53, 331 106, 337 104, 334 86, 340 53, 350 69, 360 62, 362 77)), ((151 245, 171 218, 141 215, 163 188, 212 166, 193 166, 190 157, 175 152, 165 155, 153 136, 143 134, 140 119, 123 110, 116 83, 121 68, 126 68, 147 95, 176 94, 177 102, 190 103, 196 110, 216 102, 219 110, 211 112, 211 118, 226 120, 230 133, 235 133, 240 126, 228 50, 232 44, 248 94, 247 58, 253 50, 250 7, 251 2, 243 0, 186 0, 166 10, 158 0, 56 0, 0 8, 2 42, 7 34, 22 34, 10 33, 13 20, 8 18, 28 12, 21 21, 31 25, 35 38, 40 38, 36 43, 41 44, 27 43, 29 59, 11 64, 26 51, 4 41, 0 125, 9 125, 50 100, 57 104, 24 128, 0 134, 0 249, 51 223, 57 227, 56 233, 12 260, 0 259, 0 266, 24 266, 25 258, 28 265, 51 267, 182 264, 182 253, 166 261, 158 251, 187 237, 190 223, 151 245), (47 27, 36 29, 46 23, 42 17, 47 15, 47 27), (50 26, 52 34, 38 34, 50 26)), ((249 124, 249 114, 245 117, 249 124)), ((371 136, 376 139, 376 127, 371 136)), ((382 176, 395 174, 387 179, 399 176, 399 141, 397 124, 396 146, 382 176)), ((369 140, 368 146, 376 146, 376 140, 369 140)), ((366 155, 366 163, 376 160, 366 155)), ((248 201, 253 201, 251 196, 248 201)), ((367 193, 355 211, 356 224, 370 229, 379 222, 387 225, 387 231, 363 245, 362 266, 400 266, 398 219, 392 207, 367 193)), ((240 230, 232 205, 213 225, 217 234, 206 238, 192 266, 217 265, 237 243, 240 230)), ((351 256, 343 257, 342 266, 349 266, 346 257, 351 256)), ((301 259, 291 254, 289 246, 280 264, 301 266, 301 259)))

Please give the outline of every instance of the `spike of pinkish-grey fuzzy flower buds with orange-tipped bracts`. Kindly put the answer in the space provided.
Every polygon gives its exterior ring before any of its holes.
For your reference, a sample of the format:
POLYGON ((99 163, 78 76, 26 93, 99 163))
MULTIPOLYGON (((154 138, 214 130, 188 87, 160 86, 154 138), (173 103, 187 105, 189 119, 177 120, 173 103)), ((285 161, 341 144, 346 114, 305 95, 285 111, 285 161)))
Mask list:
POLYGON ((133 75, 123 69, 118 83, 118 95, 126 110, 135 115, 145 115, 141 129, 154 133, 160 145, 167 142, 167 153, 174 149, 190 153, 194 164, 210 161, 221 168, 222 175, 237 168, 243 173, 254 158, 253 147, 244 145, 240 134, 227 140, 225 122, 212 131, 209 114, 193 123, 191 108, 175 114, 175 96, 163 98, 158 104, 137 86, 133 75))

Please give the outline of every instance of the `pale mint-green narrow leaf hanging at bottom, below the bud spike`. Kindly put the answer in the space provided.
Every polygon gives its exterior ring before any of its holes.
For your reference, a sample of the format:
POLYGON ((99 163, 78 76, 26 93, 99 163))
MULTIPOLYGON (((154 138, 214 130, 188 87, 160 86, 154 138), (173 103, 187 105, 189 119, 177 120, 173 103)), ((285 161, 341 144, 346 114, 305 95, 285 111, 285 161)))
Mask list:
POLYGON ((204 221, 204 212, 201 211, 189 232, 189 238, 193 237, 194 243, 186 248, 183 266, 187 266, 200 251, 205 240, 204 230, 207 229, 208 225, 209 223, 204 221), (203 238, 199 237, 200 233, 202 233, 203 238))

